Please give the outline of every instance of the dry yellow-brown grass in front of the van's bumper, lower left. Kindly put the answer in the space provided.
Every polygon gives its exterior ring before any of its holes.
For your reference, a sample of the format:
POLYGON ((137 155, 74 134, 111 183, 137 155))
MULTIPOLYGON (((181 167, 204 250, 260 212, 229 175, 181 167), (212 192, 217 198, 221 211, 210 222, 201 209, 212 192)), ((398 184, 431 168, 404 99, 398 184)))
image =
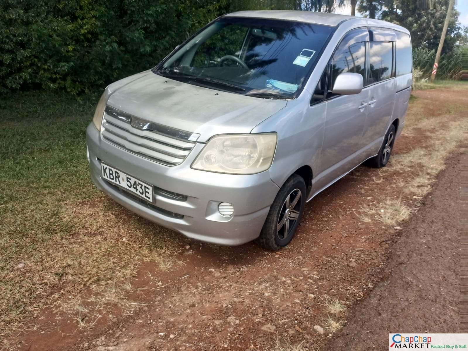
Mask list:
POLYGON ((22 228, 10 218, 3 223, 11 227, 0 241, 0 249, 9 248, 0 256, 0 339, 45 307, 72 315, 79 328, 92 329, 112 307, 124 313, 138 307, 125 298, 132 291, 125 282, 142 261, 166 271, 183 264, 174 258, 178 234, 104 195, 80 203, 44 199, 25 218, 22 228), (18 263, 22 269, 15 269, 18 263), (79 298, 85 290, 90 296, 79 298))

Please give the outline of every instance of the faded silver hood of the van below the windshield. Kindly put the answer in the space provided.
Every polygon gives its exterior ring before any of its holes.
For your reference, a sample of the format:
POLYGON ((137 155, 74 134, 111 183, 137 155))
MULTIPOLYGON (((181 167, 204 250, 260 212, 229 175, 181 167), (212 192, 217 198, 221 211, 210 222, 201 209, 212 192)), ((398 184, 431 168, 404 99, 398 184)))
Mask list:
POLYGON ((108 90, 110 106, 150 122, 198 133, 200 142, 216 134, 250 133, 286 106, 284 100, 197 87, 151 71, 119 80, 108 90))

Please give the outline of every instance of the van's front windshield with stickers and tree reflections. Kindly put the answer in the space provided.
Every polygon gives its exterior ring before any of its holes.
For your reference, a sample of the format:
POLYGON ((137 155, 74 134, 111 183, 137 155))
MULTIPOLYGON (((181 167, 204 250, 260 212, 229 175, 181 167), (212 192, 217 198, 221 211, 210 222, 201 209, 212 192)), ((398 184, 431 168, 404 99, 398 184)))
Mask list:
POLYGON ((332 30, 303 22, 223 17, 154 72, 238 94, 293 98, 332 30))

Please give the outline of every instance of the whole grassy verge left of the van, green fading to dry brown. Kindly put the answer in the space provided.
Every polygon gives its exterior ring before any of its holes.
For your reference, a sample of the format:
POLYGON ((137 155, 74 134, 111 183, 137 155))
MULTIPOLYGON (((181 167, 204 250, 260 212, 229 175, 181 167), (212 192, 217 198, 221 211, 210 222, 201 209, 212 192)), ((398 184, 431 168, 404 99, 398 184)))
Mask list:
POLYGON ((98 99, 44 91, 0 98, 0 340, 45 306, 74 311, 65 300, 89 287, 114 296, 142 260, 164 262, 176 249, 177 235, 92 184, 85 130, 98 99))

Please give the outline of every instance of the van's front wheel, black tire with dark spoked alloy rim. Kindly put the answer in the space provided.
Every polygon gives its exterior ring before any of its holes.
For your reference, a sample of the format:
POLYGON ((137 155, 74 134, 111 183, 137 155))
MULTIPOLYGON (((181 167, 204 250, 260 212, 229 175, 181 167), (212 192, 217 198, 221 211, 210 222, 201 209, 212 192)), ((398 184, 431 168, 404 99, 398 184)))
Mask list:
POLYGON ((289 244, 299 226, 305 204, 306 183, 301 176, 293 174, 278 191, 263 224, 262 232, 256 240, 257 244, 264 249, 273 251, 289 244), (295 204, 292 204, 298 194, 300 194, 299 199, 296 200, 295 204), (286 213, 289 213, 287 217, 286 213))

